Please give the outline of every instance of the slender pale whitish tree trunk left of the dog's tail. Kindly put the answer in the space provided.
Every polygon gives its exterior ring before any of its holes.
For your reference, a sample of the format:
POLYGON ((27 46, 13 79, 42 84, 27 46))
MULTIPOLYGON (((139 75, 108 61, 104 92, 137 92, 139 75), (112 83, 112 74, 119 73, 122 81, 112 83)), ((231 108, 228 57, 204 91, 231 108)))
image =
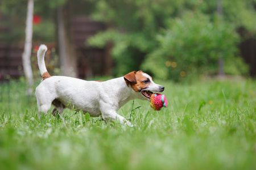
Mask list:
POLYGON ((33 11, 34 0, 28 0, 27 3, 27 20, 26 20, 26 38, 24 43, 24 52, 22 54, 23 70, 27 80, 27 95, 32 95, 33 92, 33 73, 31 68, 31 49, 32 49, 32 33, 33 33, 33 11))

